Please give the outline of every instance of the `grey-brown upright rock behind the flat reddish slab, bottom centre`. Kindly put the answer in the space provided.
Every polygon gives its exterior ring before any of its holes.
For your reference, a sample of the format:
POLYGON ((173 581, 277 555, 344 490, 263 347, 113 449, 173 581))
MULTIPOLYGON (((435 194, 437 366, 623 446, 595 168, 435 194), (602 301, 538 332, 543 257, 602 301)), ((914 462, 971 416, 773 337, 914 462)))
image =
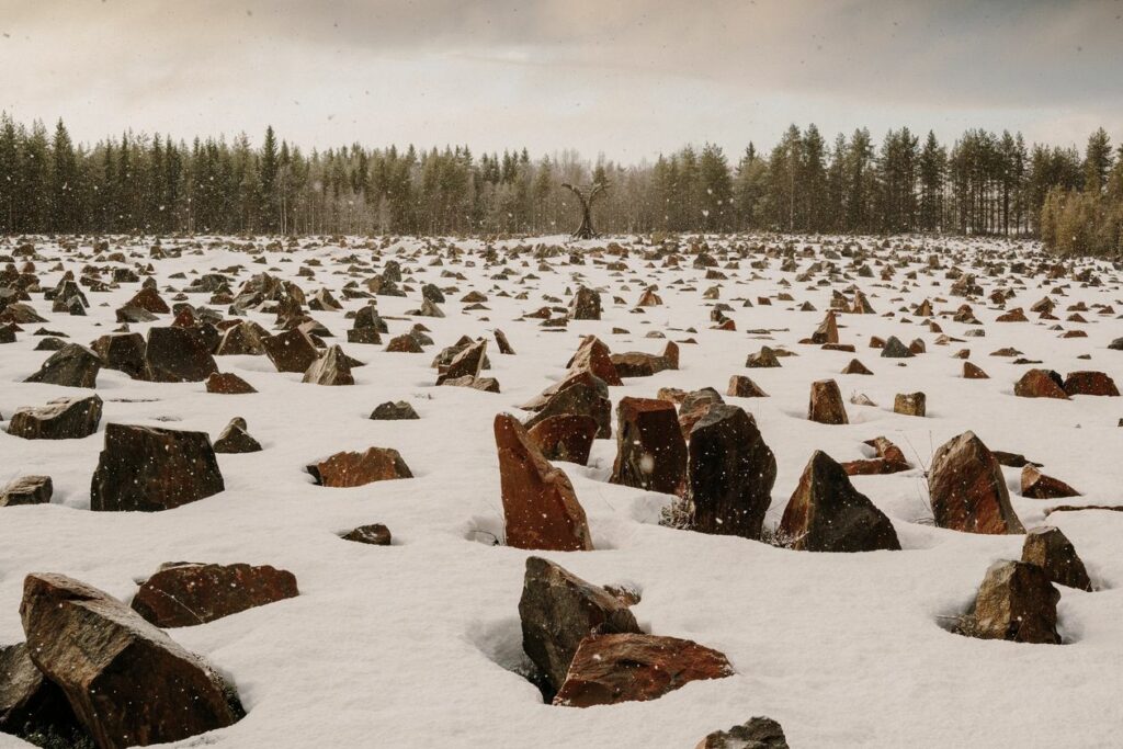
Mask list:
POLYGON ((641 631, 628 606, 608 591, 540 557, 527 557, 519 619, 522 649, 555 692, 586 637, 641 631))

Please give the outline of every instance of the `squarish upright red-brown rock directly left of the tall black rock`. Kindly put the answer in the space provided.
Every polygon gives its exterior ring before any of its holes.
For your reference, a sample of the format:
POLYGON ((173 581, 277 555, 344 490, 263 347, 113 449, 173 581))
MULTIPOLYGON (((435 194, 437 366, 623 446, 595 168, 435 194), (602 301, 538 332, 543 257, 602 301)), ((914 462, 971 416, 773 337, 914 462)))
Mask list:
POLYGON ((674 404, 646 398, 620 399, 617 459, 609 481, 649 492, 682 494, 685 479, 686 442, 674 404))

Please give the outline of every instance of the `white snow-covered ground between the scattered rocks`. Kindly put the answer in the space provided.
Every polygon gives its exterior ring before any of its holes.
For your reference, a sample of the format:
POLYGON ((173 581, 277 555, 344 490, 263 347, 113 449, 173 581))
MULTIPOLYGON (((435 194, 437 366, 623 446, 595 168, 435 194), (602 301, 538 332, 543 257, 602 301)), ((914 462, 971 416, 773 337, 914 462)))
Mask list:
MULTIPOLYGON (((542 241, 560 244, 560 237, 542 241)), ((627 239, 618 238, 627 244, 627 239)), ((777 246, 775 239, 761 239, 777 246)), ((842 240, 839 240, 842 241, 842 240)), ((867 239, 874 247, 879 240, 867 239)), ((902 244, 909 239, 895 240, 902 244)), ((608 240, 579 243, 592 250, 608 240)), ((148 262, 147 246, 131 262, 148 262)), ((173 246, 174 240, 164 240, 173 246)), ((181 241, 179 244, 186 244, 181 241)), ((262 243, 264 244, 264 243, 262 243)), ((357 244, 357 243, 356 243, 357 244)), ((208 246, 201 254, 154 261, 162 295, 197 274, 243 266, 235 290, 252 274, 270 273, 296 281, 305 292, 340 289, 363 281, 391 256, 410 271, 408 298, 380 296, 378 309, 391 336, 414 320, 405 316, 420 302, 420 285, 455 286, 441 304, 444 319, 418 318, 430 328, 436 346, 424 354, 391 354, 384 346, 349 345, 350 320, 344 312, 312 312, 343 348, 366 366, 354 371, 356 385, 326 387, 302 384, 299 374, 279 374, 264 357, 218 357, 220 369, 248 381, 258 393, 208 394, 202 383, 135 382, 103 369, 98 393, 106 401, 99 433, 82 440, 22 440, 0 432, 0 483, 26 474, 54 479, 49 505, 0 509, 0 642, 24 639, 18 608, 25 574, 57 572, 99 586, 122 600, 161 563, 173 560, 268 564, 295 574, 301 595, 199 627, 171 631, 173 639, 206 656, 237 685, 248 710, 236 725, 180 746, 230 748, 276 747, 693 747, 713 730, 754 715, 779 721, 793 747, 1112 747, 1120 746, 1123 724, 1123 513, 1056 513, 1061 503, 1123 503, 1123 399, 1077 396, 1071 401, 1024 399, 1013 384, 1029 368, 1013 359, 992 357, 1013 346, 1061 374, 1099 369, 1123 384, 1123 351, 1107 344, 1123 336, 1121 273, 1097 264, 1103 282, 1087 287, 1071 277, 1043 286, 1046 275, 1024 280, 1004 273, 987 276, 984 262, 1002 262, 1005 253, 1029 257, 1032 245, 986 240, 948 240, 961 250, 958 263, 978 273, 985 295, 973 302, 982 326, 937 318, 943 331, 962 338, 983 328, 983 338, 950 346, 920 325, 912 307, 924 299, 937 312, 964 302, 949 295, 946 271, 926 272, 929 250, 904 252, 911 265, 896 270, 889 282, 875 277, 840 281, 857 284, 877 314, 839 318, 843 342, 857 354, 800 345, 830 307, 831 286, 796 281, 818 255, 797 253, 795 272, 780 270, 782 258, 748 254, 739 270, 725 270, 728 240, 710 239, 725 281, 706 281, 686 256, 679 268, 650 266, 636 252, 629 270, 615 273, 590 256, 568 265, 567 254, 540 270, 531 254, 513 258, 509 280, 489 266, 481 241, 458 243, 467 252, 459 261, 445 257, 430 266, 423 240, 403 240, 375 257, 373 270, 347 275, 350 254, 367 249, 322 246, 292 254, 267 253, 267 264, 229 245, 208 246), (314 278, 298 277, 304 261, 318 258, 314 278), (752 262, 765 267, 752 268, 752 262), (440 277, 463 273, 466 281, 440 277), (915 281, 906 273, 919 271, 915 281), (183 273, 186 280, 170 278, 183 273), (524 278, 532 274, 533 278, 524 278), (601 321, 570 322, 564 331, 545 329, 538 320, 519 320, 542 307, 544 294, 565 296, 576 289, 573 276, 600 287, 601 321), (682 280, 683 283, 674 282, 682 280), (787 282, 784 284, 782 282, 787 282), (663 307, 633 313, 643 289, 658 285, 663 307), (720 301, 737 331, 711 329, 703 291, 721 286, 720 301), (995 289, 1014 289, 1006 309, 1029 307, 1057 285, 1059 325, 1084 329, 1087 338, 1061 338, 1053 322, 1030 313, 1030 322, 996 323, 1002 312, 986 302, 995 289), (469 291, 487 294, 486 311, 465 311, 458 300, 469 291), (506 291, 510 296, 499 292, 506 291), (526 292, 528 299, 515 300, 526 292), (787 292, 794 302, 777 301, 787 292), (613 303, 613 296, 626 302, 613 303), (770 296, 772 305, 757 303, 770 296), (750 299, 751 308, 738 300, 750 299), (944 301, 938 301, 942 299, 944 301), (1085 312, 1085 325, 1066 322, 1069 304, 1114 307, 1113 314, 1085 312), (811 302, 816 311, 798 311, 811 302), (892 317, 885 313, 893 312, 892 317), (909 321, 904 321, 906 318, 909 321), (686 332, 687 328, 696 332, 686 332), (444 346, 462 335, 490 336, 501 328, 517 354, 489 349, 502 393, 436 387, 430 363, 444 346), (613 334, 626 328, 628 334, 613 334), (770 336, 747 334, 769 329, 770 336), (681 346, 681 368, 654 377, 627 381, 612 389, 622 395, 654 398, 659 387, 695 390, 713 386, 724 393, 730 375, 748 374, 768 394, 765 399, 727 401, 751 412, 776 454, 779 476, 766 526, 780 513, 812 451, 825 450, 837 460, 867 457, 862 440, 888 437, 904 449, 914 469, 888 476, 859 476, 853 483, 889 515, 903 551, 834 555, 797 552, 750 540, 714 537, 658 524, 660 509, 672 497, 610 485, 614 440, 599 440, 587 467, 560 465, 573 481, 592 528, 595 551, 541 554, 591 582, 628 582, 642 601, 633 611, 645 630, 684 637, 724 652, 737 670, 730 678, 696 682, 645 703, 572 709, 542 704, 539 692, 513 673, 524 660, 517 604, 528 551, 490 544, 502 532, 499 469, 492 419, 510 411, 562 377, 581 337, 595 334, 613 351, 661 351, 664 340, 694 338, 681 346), (926 342, 928 353, 898 360, 879 358, 868 347, 871 336, 895 335, 906 344, 926 342), (798 356, 774 369, 746 369, 745 358, 761 345, 784 346, 798 356), (971 360, 990 380, 961 377, 962 362, 951 354, 970 348, 971 360), (1080 359, 1080 355, 1090 359, 1080 359), (841 375, 855 356, 875 376, 841 375), (865 393, 876 407, 847 403, 848 426, 807 421, 812 381, 833 377, 843 396, 865 393), (928 418, 893 413, 895 393, 928 394, 928 418), (418 421, 372 421, 375 405, 405 400, 418 421), (106 423, 144 423, 202 430, 212 437, 231 417, 248 421, 249 433, 264 450, 220 455, 226 492, 161 513, 91 512, 90 478, 102 446, 106 423), (1004 469, 1013 505, 1028 528, 1059 526, 1075 545, 1098 588, 1093 593, 1062 588, 1059 629, 1066 645, 1037 646, 985 641, 947 631, 949 616, 973 600, 988 565, 1016 559, 1021 536, 974 536, 934 528, 926 505, 924 467, 940 444, 974 430, 992 449, 1022 453, 1043 464, 1048 474, 1083 492, 1076 500, 1039 501, 1020 496, 1019 473, 1004 469), (371 446, 398 449, 413 479, 380 482, 357 488, 312 484, 304 466, 339 450, 371 446), (381 522, 394 536, 392 547, 344 541, 341 531, 381 522), (478 532, 485 531, 485 532, 478 532)), ((500 247, 514 243, 500 244, 500 247)), ((743 238, 736 243, 745 246, 743 238)), ((920 240, 912 240, 919 246, 920 240)), ((932 246, 933 243, 929 243, 932 246)), ((79 274, 89 262, 40 240, 37 271, 44 287, 62 276, 54 267, 79 274)), ((819 241, 798 239, 819 248, 819 241)), ((0 245, 0 254, 11 252, 0 245)), ((687 246, 684 244, 684 249, 687 246)), ((89 246, 86 245, 86 248, 89 246)), ((128 250, 128 247, 125 246, 128 250)), ((650 247, 648 247, 650 249, 650 247)), ((889 249, 876 250, 887 256, 889 249)), ((441 253, 441 256, 445 254, 441 253)), ((501 253, 505 255, 505 250, 501 253)), ((1033 265, 1038 259, 1030 259, 1033 265)), ((22 262, 17 258, 18 262, 22 262)), ((947 257, 944 257, 947 263, 947 257)), ((837 261, 846 267, 848 258, 837 261)), ((951 263, 947 263, 950 265, 951 263)), ((1008 266, 1008 263, 1007 263, 1008 266)), ((89 344, 117 327, 113 311, 138 289, 126 284, 108 293, 86 295, 88 317, 51 313, 51 303, 34 295, 44 327, 89 344)), ((190 295, 192 304, 208 296, 190 295)), ((362 300, 345 303, 356 309, 362 300)), ((222 309, 223 313, 226 312, 222 309)), ((274 316, 252 314, 266 328, 274 316)), ((156 325, 167 325, 163 316, 156 325)), ((10 418, 21 405, 42 405, 79 391, 22 380, 49 355, 34 351, 38 338, 26 326, 15 344, 0 346, 0 414, 10 418)), ((144 331, 145 325, 133 326, 144 331)), ((384 340, 387 337, 383 337, 384 340)), ((3 746, 19 746, 0 734, 3 746)))

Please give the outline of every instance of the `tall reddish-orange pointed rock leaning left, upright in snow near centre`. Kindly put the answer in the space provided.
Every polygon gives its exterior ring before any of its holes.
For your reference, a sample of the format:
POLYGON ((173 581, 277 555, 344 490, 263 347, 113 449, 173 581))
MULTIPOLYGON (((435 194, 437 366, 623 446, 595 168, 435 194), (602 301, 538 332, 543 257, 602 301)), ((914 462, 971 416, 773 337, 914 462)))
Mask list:
POLYGON ((506 545, 518 549, 591 551, 588 520, 569 478, 542 457, 514 417, 497 414, 494 430, 506 545))

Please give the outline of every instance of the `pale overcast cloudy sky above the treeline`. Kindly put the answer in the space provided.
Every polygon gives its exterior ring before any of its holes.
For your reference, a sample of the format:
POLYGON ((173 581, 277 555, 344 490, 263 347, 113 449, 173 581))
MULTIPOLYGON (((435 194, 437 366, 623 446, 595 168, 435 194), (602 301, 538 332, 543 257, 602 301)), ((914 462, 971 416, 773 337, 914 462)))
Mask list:
POLYGON ((1119 144, 1123 0, 0 0, 0 110, 623 163, 793 122, 1119 144))

